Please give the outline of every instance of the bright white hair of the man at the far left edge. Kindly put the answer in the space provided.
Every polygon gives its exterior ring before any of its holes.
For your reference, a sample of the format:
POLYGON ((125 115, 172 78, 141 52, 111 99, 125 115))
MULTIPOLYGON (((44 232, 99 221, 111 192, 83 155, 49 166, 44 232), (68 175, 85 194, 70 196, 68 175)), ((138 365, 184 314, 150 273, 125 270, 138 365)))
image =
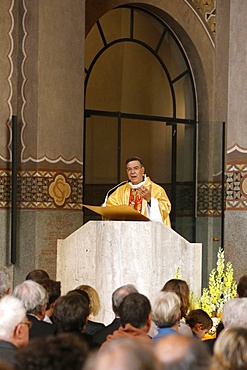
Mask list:
POLYGON ((22 302, 11 295, 0 299, 0 339, 10 341, 14 330, 26 317, 22 302))

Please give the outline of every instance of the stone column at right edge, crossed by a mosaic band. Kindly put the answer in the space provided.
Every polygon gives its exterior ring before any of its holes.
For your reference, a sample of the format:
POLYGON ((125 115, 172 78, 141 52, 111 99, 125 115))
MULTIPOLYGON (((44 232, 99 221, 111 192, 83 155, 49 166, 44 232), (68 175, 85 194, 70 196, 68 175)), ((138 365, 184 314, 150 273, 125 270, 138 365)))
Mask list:
POLYGON ((225 254, 239 278, 247 264, 247 3, 218 0, 217 14, 216 110, 227 122, 225 254))

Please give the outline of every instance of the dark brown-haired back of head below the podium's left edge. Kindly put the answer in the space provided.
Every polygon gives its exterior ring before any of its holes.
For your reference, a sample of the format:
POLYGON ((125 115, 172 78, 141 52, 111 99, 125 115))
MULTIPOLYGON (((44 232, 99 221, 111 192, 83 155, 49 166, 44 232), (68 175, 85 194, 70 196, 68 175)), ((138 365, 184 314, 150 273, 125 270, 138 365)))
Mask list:
POLYGON ((88 301, 74 292, 58 298, 53 312, 53 321, 59 332, 82 331, 89 315, 88 301))

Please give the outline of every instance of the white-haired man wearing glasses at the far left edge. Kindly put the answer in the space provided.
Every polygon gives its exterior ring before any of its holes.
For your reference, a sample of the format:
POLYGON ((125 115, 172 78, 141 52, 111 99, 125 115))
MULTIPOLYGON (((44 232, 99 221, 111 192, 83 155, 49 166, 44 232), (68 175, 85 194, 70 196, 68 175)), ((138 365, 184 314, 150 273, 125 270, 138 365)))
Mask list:
POLYGON ((32 323, 22 302, 11 295, 0 299, 0 359, 13 365, 18 349, 29 341, 32 323))

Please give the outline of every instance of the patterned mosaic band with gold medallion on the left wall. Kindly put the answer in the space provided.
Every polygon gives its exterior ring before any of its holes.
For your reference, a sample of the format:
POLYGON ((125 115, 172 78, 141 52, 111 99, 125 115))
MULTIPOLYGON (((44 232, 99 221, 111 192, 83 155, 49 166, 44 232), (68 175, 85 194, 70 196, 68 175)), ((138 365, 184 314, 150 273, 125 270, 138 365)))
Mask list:
MULTIPOLYGON (((18 208, 81 210, 82 174, 18 172, 18 208)), ((11 172, 0 171, 0 208, 11 207, 11 172)))

